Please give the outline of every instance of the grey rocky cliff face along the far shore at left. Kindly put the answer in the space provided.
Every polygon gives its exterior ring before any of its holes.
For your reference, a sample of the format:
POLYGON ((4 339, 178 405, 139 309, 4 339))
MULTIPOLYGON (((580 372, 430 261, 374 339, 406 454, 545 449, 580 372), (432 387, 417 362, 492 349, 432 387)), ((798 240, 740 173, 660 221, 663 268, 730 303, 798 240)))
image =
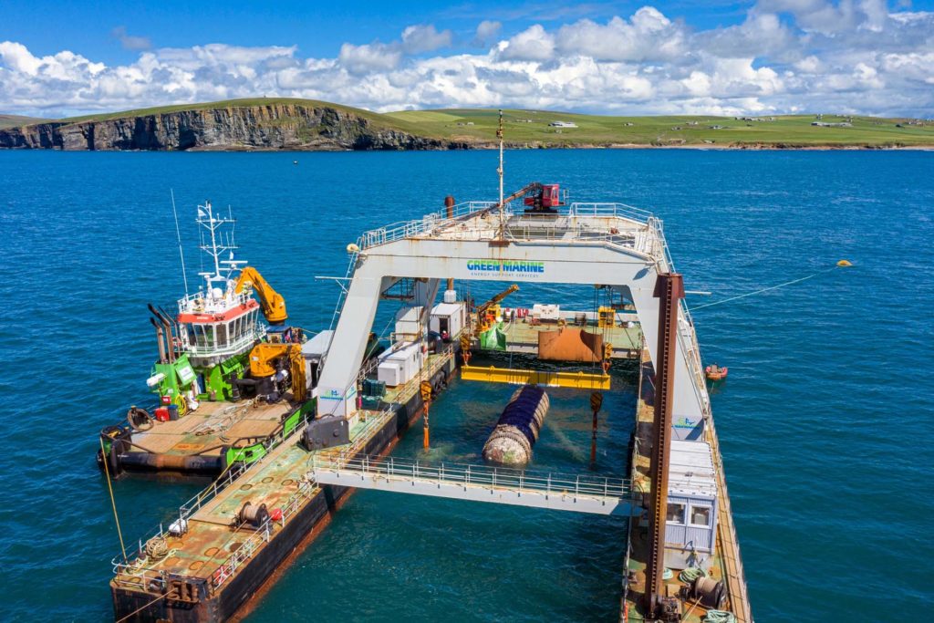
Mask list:
POLYGON ((331 106, 269 104, 177 110, 0 129, 0 149, 463 149, 331 106))

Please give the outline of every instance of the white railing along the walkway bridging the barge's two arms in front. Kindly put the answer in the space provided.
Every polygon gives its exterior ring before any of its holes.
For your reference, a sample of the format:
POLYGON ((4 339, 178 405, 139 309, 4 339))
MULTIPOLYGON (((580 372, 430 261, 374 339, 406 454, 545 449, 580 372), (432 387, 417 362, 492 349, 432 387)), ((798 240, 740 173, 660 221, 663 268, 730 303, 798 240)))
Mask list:
POLYGON ((316 455, 312 464, 316 472, 349 471, 377 478, 421 479, 463 487, 503 488, 520 493, 629 498, 632 491, 628 478, 532 472, 467 463, 432 464, 393 457, 385 460, 369 457, 341 460, 316 455))

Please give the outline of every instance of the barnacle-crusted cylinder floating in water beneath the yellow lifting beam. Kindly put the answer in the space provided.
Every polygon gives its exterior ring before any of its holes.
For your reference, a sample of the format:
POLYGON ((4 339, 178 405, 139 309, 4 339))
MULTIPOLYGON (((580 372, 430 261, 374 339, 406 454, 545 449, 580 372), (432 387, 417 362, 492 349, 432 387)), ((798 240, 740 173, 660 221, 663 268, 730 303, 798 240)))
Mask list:
POLYGON ((517 389, 483 446, 483 460, 500 465, 528 463, 547 412, 545 389, 537 385, 517 389))

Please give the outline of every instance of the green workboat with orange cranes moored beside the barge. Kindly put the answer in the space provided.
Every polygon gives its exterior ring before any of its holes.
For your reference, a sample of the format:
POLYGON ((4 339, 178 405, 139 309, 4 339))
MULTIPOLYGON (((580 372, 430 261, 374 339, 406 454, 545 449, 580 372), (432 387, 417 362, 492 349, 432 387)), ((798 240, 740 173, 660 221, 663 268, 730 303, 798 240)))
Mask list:
POLYGON ((154 404, 131 406, 126 421, 101 432, 97 461, 110 475, 216 476, 259 460, 314 413, 310 393, 327 345, 288 325, 283 297, 233 259, 229 212, 218 216, 205 202, 197 223, 210 260, 204 284, 177 300, 175 314, 149 304, 159 351, 146 381, 154 404))

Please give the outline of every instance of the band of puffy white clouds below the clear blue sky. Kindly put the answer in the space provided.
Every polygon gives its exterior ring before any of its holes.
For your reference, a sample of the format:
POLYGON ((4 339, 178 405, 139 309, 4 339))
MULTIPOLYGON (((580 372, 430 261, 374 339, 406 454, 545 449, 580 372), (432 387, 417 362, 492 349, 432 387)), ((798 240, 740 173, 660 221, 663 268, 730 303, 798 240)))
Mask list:
MULTIPOLYGON (((333 57, 297 47, 210 44, 148 50, 108 66, 72 51, 35 56, 0 43, 0 110, 119 110, 279 95, 386 111, 517 106, 605 113, 838 111, 930 116, 934 13, 879 2, 762 0, 736 25, 692 29, 653 7, 607 21, 541 24, 488 50, 438 52, 449 31, 413 25, 389 43, 346 43, 333 57)), ((494 41, 495 38, 501 38, 494 41)))

